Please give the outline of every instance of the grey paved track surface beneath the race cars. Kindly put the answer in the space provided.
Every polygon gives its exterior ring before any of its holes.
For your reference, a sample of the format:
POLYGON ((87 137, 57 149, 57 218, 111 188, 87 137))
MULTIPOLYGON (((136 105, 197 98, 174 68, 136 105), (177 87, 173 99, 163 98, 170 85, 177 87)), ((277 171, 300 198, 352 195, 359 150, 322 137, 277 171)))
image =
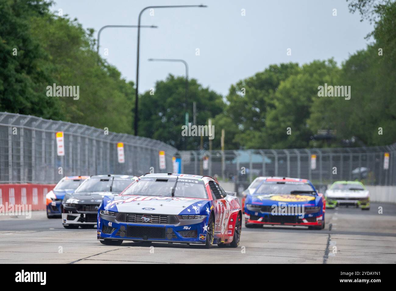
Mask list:
POLYGON ((396 263, 396 205, 327 209, 326 228, 242 228, 238 248, 169 243, 102 245, 96 229, 67 230, 34 211, 0 216, 0 263, 396 263), (383 213, 378 208, 383 207, 383 213))

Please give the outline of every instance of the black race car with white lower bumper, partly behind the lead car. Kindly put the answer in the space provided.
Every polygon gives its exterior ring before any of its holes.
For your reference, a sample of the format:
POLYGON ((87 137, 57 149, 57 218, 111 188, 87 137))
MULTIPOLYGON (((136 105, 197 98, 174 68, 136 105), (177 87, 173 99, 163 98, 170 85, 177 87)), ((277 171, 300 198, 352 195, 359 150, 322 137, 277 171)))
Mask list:
POLYGON ((128 175, 98 175, 86 179, 73 194, 65 194, 63 198, 63 227, 93 228, 103 197, 122 192, 135 179, 137 179, 136 176, 128 175))

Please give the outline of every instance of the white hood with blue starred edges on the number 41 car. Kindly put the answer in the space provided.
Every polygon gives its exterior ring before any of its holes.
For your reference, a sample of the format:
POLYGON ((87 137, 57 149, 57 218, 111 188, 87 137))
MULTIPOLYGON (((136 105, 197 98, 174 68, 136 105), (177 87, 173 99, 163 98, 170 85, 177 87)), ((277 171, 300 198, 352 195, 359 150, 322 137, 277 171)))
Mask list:
POLYGON ((106 196, 103 208, 128 213, 158 213, 173 215, 207 215, 209 200, 171 196, 106 196))

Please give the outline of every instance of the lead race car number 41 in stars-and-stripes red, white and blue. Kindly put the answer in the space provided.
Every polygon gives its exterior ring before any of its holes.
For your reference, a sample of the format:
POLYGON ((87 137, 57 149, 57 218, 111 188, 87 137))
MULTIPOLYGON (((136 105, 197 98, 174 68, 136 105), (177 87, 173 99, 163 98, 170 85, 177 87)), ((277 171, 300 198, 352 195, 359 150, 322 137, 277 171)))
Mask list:
POLYGON ((242 212, 235 193, 211 177, 145 174, 117 196, 105 196, 97 239, 105 245, 133 242, 239 245, 242 212))

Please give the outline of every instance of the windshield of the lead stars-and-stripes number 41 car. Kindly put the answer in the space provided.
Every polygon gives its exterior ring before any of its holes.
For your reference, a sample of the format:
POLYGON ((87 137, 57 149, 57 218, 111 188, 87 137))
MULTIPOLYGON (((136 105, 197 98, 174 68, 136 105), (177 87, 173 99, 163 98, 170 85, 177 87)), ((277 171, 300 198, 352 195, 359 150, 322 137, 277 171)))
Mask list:
MULTIPOLYGON (((123 194, 172 197, 172 188, 175 182, 175 178, 141 178, 126 189, 123 194)), ((208 198, 204 181, 199 180, 179 178, 174 193, 175 197, 208 198)))

